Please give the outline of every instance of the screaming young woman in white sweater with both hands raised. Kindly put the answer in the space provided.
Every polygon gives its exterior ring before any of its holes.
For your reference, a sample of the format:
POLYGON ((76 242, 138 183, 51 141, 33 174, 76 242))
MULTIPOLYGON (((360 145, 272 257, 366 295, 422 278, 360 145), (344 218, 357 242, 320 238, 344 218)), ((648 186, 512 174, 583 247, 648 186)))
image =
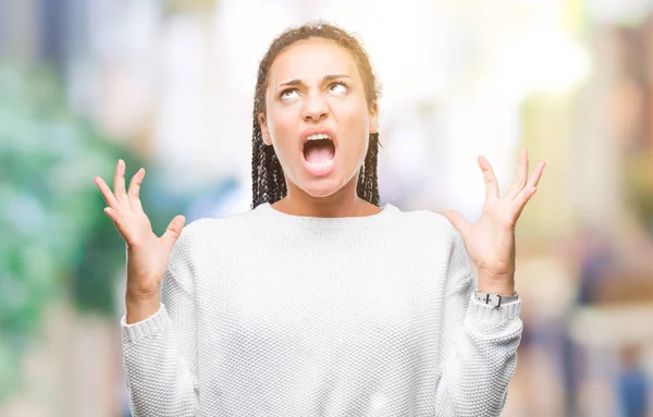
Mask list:
POLYGON ((158 237, 140 169, 96 177, 127 245, 124 367, 136 416, 496 416, 522 323, 514 228, 526 152, 480 220, 379 207, 378 88, 358 41, 293 28, 260 63, 252 209, 158 237), (453 226, 452 226, 453 224, 453 226), (476 262, 475 273, 470 259, 476 262))

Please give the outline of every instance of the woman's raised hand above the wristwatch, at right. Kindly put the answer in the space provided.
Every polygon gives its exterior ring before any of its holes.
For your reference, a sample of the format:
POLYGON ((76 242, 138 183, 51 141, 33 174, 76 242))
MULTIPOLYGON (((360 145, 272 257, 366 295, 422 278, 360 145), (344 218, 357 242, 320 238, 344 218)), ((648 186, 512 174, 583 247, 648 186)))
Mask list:
POLYGON ((538 191, 545 163, 538 163, 533 174, 528 177, 528 154, 522 150, 513 188, 505 197, 500 197, 492 165, 484 157, 479 157, 478 162, 485 180, 485 203, 481 218, 475 224, 469 224, 456 211, 446 211, 444 216, 463 236, 469 258, 477 266, 479 291, 513 295, 515 226, 523 207, 538 191))

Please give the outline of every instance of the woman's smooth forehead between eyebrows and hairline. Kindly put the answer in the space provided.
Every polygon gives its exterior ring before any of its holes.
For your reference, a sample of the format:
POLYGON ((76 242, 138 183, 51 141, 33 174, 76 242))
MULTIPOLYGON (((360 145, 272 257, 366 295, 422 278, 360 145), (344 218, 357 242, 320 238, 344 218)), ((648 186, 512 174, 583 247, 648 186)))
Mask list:
POLYGON ((352 54, 332 40, 308 39, 291 45, 279 53, 270 68, 270 85, 292 79, 313 82, 324 75, 358 78, 352 54))

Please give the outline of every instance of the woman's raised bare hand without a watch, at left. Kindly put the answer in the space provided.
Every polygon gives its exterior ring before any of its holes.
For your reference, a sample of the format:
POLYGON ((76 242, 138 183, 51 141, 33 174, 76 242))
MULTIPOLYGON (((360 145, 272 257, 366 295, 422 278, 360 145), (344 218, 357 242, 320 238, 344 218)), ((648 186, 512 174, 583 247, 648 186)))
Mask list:
MULTIPOLYGON (((139 193, 145 176, 141 168, 134 174, 130 188, 125 189, 125 162, 121 159, 115 167, 113 192, 99 176, 94 182, 102 193, 107 208, 104 213, 113 221, 127 247, 127 321, 134 322, 148 317, 141 314, 130 315, 130 306, 149 304, 159 306, 159 289, 168 269, 170 253, 184 229, 185 218, 176 216, 161 237, 152 232, 151 223, 143 211, 139 193), (130 316, 133 316, 134 320, 130 316)), ((133 308, 133 309, 134 309, 133 308)), ((150 308, 151 310, 151 308, 150 308)), ((137 312, 137 311, 133 311, 137 312)))

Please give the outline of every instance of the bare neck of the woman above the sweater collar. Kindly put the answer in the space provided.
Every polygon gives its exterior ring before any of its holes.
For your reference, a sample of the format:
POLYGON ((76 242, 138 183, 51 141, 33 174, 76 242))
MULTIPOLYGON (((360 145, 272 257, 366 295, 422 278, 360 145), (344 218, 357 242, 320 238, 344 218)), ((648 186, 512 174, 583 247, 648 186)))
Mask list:
POLYGON ((358 197, 357 182, 358 177, 354 176, 345 186, 326 197, 313 197, 289 183, 287 195, 272 207, 286 214, 319 218, 360 217, 380 212, 380 207, 358 197))

